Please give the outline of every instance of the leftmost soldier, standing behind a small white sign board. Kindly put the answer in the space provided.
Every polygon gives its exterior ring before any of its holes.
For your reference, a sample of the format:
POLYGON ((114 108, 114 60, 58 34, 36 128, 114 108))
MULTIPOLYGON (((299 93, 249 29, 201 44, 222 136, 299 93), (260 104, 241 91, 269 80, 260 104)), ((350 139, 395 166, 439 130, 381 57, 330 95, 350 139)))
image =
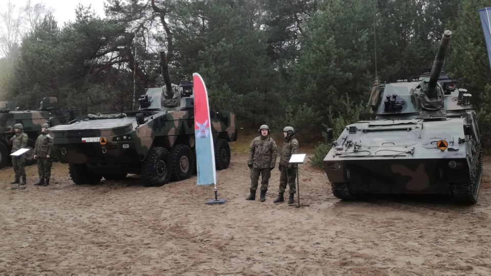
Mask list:
MULTIPOLYGON (((16 152, 21 148, 27 147, 27 134, 24 133, 24 126, 22 124, 14 125, 15 135, 10 139, 12 141, 12 151, 16 152)), ((12 156, 12 165, 14 167, 15 180, 10 182, 12 184, 12 189, 26 189, 26 169, 24 168, 26 164, 26 159, 24 154, 19 156, 12 156), (22 181, 19 185, 19 177, 22 177, 22 181), (13 186, 17 184, 17 186, 13 186)))

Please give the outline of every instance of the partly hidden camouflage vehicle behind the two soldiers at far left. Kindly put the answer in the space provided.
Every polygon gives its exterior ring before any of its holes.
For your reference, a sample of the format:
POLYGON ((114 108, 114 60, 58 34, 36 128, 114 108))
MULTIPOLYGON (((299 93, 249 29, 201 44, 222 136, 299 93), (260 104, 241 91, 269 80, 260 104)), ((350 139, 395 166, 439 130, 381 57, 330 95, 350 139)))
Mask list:
POLYGON ((30 149, 25 154, 26 164, 34 164, 32 149, 37 136, 41 134, 42 124, 49 123, 50 126, 55 126, 82 119, 78 108, 59 109, 55 97, 43 98, 38 110, 17 110, 15 106, 14 101, 0 102, 0 168, 4 167, 10 158, 12 149, 10 139, 15 134, 15 124, 24 126, 24 132, 29 137, 27 147, 30 149))

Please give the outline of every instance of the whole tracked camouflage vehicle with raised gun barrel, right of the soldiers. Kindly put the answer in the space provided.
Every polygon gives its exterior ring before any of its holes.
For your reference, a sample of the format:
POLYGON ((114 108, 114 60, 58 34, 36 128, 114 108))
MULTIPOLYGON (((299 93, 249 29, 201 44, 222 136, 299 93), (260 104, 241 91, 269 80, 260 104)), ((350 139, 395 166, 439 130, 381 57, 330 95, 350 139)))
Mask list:
POLYGON ((430 74, 375 81, 368 102, 375 120, 346 126, 324 158, 335 196, 430 194, 477 201, 482 153, 472 95, 442 72, 451 34, 444 32, 430 74))

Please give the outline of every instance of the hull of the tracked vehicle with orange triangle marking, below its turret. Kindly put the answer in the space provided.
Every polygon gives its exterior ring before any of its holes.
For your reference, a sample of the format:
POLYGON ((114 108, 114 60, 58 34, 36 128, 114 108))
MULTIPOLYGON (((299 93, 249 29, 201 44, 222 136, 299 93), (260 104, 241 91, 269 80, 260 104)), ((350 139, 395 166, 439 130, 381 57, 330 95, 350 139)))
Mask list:
POLYGON ((440 194, 475 203, 482 175, 478 133, 464 133, 475 113, 443 121, 358 122, 324 158, 334 196, 440 194), (355 133, 349 133, 356 131, 355 133))

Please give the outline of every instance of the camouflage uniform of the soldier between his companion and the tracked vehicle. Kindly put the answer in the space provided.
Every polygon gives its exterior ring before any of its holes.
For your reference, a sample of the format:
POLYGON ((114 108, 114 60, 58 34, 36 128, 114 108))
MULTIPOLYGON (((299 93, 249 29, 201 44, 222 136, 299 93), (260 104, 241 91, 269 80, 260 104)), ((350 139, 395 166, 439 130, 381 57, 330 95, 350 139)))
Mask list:
POLYGON ((280 188, 279 192, 284 193, 286 189, 286 183, 290 187, 289 193, 295 194, 297 188, 295 186, 295 178, 297 177, 297 164, 288 164, 288 161, 293 154, 298 153, 298 141, 295 139, 295 135, 287 139, 285 137, 285 143, 283 144, 283 149, 281 150, 280 156, 280 188))

